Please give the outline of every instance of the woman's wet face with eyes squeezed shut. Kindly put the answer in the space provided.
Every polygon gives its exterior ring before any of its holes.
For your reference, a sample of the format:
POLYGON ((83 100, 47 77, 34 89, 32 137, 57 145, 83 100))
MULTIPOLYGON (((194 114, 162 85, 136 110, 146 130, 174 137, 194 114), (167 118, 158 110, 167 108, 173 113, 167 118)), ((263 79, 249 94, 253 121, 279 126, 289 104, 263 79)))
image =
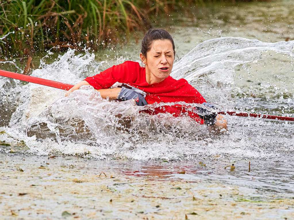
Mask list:
POLYGON ((173 68, 174 51, 170 40, 155 40, 151 43, 151 49, 147 57, 140 54, 146 67, 146 74, 150 74, 161 82, 171 74, 173 68))

